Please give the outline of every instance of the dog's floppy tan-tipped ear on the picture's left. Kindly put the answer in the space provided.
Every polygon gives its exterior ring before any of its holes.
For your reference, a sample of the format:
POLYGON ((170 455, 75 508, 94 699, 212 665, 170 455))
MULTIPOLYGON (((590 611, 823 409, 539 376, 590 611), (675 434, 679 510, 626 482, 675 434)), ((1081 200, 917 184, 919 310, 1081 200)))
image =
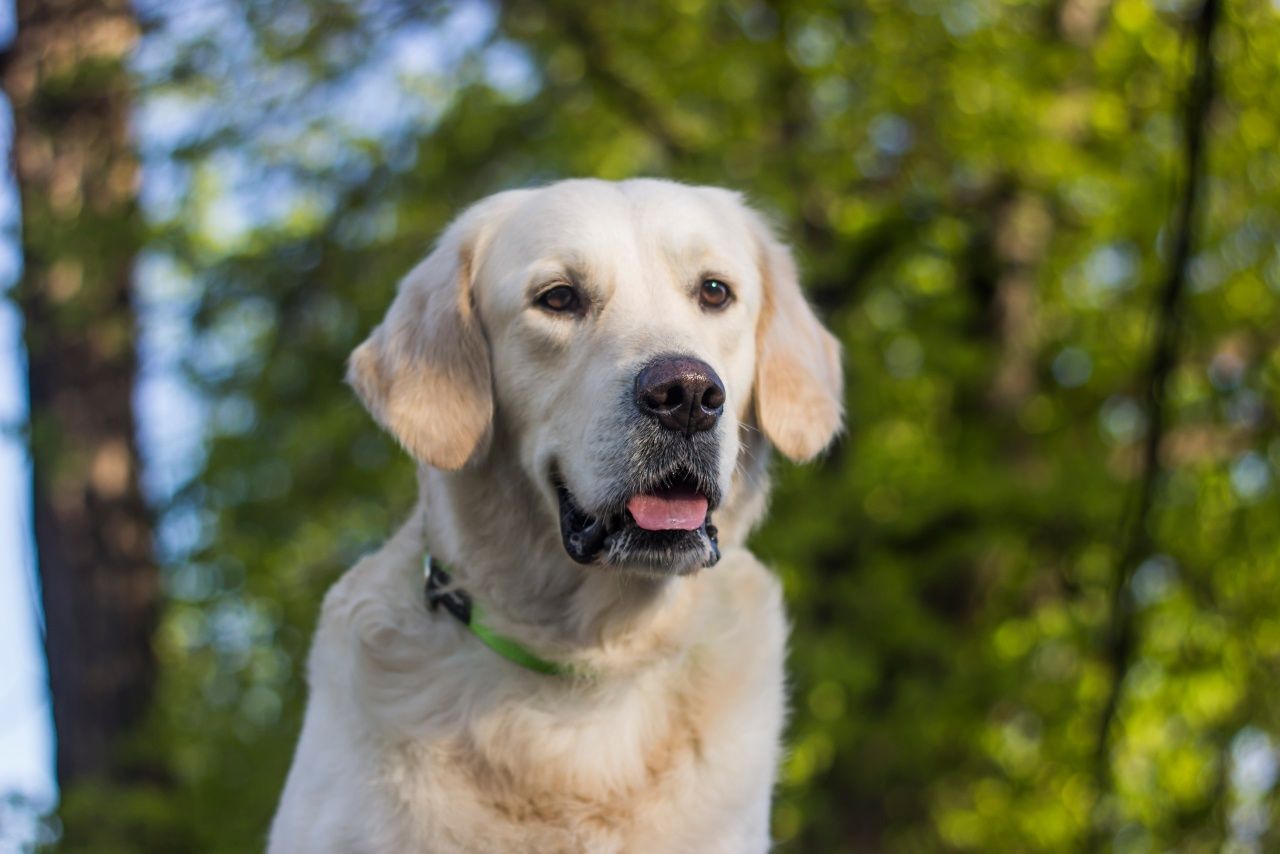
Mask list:
POLYGON ((521 196, 490 196, 449 225, 347 364, 347 382, 378 423, 436 469, 461 469, 489 440, 489 346, 471 291, 489 236, 521 196))

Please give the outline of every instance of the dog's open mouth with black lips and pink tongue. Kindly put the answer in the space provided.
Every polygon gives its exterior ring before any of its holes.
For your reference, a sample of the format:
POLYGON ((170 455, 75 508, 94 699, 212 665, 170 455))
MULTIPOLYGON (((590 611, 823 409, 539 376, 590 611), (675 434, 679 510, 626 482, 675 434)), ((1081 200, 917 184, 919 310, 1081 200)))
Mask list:
POLYGON ((582 510, 558 475, 553 483, 564 551, 579 563, 684 575, 719 561, 712 524, 718 497, 691 469, 664 472, 602 513, 582 510))

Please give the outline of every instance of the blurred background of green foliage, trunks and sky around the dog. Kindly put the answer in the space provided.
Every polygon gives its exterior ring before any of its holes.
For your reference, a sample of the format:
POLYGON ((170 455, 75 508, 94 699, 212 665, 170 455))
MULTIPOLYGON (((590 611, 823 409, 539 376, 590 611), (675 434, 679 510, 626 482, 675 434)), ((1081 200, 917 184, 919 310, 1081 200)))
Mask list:
POLYGON ((412 501, 346 355, 471 201, 660 175, 768 211, 846 348, 754 538, 780 850, 1280 850, 1276 0, 8 17, 0 845, 261 848, 412 501))

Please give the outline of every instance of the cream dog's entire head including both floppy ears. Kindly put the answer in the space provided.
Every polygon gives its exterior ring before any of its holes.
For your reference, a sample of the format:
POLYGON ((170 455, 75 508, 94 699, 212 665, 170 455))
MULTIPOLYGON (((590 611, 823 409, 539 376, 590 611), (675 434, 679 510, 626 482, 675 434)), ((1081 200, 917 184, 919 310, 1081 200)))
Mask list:
POLYGON ((570 557, 684 574, 718 558, 744 431, 809 458, 840 428, 838 347, 737 196, 573 181, 470 209, 352 356, 421 462, 509 443, 570 557))

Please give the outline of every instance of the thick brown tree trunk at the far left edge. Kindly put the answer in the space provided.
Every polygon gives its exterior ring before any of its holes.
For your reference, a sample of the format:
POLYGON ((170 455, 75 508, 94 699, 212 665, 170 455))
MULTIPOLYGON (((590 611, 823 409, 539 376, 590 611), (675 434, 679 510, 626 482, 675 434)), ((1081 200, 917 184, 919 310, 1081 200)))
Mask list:
POLYGON ((32 502, 61 786, 123 780, 155 681, 159 600, 138 487, 131 294, 141 228, 127 0, 18 0, 5 58, 22 196, 32 502))

